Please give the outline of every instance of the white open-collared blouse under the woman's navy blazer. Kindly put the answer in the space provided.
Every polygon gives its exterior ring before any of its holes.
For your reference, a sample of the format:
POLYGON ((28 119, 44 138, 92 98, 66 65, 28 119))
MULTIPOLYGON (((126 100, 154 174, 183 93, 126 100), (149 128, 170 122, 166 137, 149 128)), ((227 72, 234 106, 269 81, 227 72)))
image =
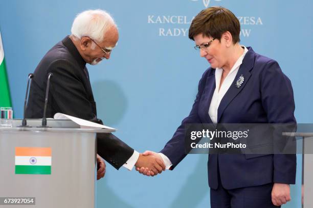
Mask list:
POLYGON ((234 64, 234 66, 230 70, 230 72, 227 74, 227 76, 225 77, 225 80, 223 81, 222 85, 220 86, 220 89, 218 89, 218 88, 219 88, 220 79, 221 79, 223 69, 222 68, 216 68, 215 69, 215 91, 213 93, 210 108, 209 108, 209 116, 210 116, 213 123, 217 123, 217 110, 218 110, 219 103, 220 103, 221 99, 223 98, 223 96, 228 91, 229 87, 234 82, 234 79, 237 75, 238 69, 239 69, 240 65, 242 64, 242 60, 243 60, 245 54, 247 54, 247 52, 248 52, 248 49, 244 45, 241 45, 241 47, 244 47, 244 52, 239 57, 239 59, 236 61, 236 63, 234 64))

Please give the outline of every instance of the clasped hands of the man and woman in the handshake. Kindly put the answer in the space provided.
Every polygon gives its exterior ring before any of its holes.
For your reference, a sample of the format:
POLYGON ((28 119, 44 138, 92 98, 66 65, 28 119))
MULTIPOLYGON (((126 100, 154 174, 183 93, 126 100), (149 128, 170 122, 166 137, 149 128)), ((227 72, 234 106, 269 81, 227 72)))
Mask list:
MULTIPOLYGON (((145 152, 146 153, 146 152, 145 152)), ((135 164, 136 170, 143 169, 146 171, 145 175, 154 176, 162 173, 165 170, 165 165, 161 157, 146 153, 140 154, 137 163, 135 164)), ((144 171, 142 171, 144 172, 144 171)), ((142 173, 141 172, 141 173, 142 173)))

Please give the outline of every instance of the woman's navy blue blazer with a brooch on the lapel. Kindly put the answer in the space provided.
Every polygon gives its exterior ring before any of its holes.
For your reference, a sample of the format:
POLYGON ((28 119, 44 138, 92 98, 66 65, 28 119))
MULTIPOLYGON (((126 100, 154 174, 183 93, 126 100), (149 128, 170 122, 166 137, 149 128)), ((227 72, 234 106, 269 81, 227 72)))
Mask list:
MULTIPOLYGON (((275 60, 256 54, 251 47, 234 82, 218 107, 217 123, 296 123, 293 88, 275 60), (244 82, 237 88, 236 81, 244 82)), ((189 123, 212 123, 208 114, 215 90, 215 69, 207 69, 199 81, 191 112, 161 150, 174 169, 185 157, 185 129, 189 123)), ((226 189, 269 183, 295 184, 295 154, 209 154, 208 179, 218 187, 218 168, 226 189)))

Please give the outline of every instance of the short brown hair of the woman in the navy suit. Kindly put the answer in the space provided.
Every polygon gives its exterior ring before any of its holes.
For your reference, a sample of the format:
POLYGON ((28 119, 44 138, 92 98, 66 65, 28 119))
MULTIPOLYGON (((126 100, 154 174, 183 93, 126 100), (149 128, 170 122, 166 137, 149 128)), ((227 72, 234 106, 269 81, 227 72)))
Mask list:
POLYGON ((204 36, 218 39, 223 33, 230 32, 233 43, 240 41, 240 23, 238 18, 228 9, 223 7, 210 7, 202 10, 192 20, 189 28, 189 38, 202 33, 204 36))

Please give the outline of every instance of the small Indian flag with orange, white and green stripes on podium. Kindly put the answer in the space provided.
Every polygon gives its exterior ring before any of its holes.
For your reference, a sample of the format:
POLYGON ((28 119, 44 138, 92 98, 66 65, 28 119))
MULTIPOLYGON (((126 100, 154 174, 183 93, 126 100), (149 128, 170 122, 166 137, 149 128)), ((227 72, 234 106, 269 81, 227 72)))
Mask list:
POLYGON ((15 174, 51 174, 51 147, 15 147, 15 174))

